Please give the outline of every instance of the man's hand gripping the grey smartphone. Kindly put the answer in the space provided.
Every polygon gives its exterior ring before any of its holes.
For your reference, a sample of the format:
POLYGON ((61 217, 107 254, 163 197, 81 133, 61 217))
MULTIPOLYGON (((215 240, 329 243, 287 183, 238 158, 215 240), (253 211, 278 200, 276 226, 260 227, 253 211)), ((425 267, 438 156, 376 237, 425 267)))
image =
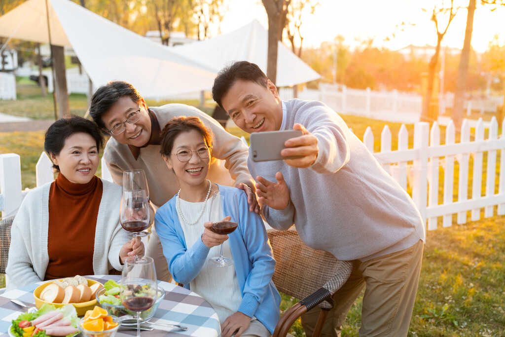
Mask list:
POLYGON ((294 124, 293 129, 301 130, 301 132, 304 134, 299 137, 286 140, 285 146, 288 149, 282 150, 281 155, 284 157, 302 157, 296 159, 285 159, 284 162, 289 166, 297 168, 310 167, 316 162, 316 158, 319 152, 318 139, 301 124, 294 124))

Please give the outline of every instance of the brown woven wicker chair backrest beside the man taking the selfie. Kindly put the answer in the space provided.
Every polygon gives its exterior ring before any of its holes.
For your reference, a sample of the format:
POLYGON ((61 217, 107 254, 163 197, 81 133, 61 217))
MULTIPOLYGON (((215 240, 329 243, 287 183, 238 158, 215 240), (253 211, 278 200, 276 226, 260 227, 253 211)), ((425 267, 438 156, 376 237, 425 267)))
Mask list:
POLYGON ((348 267, 349 262, 306 246, 294 229, 269 229, 267 233, 276 261, 272 280, 277 290, 284 294, 304 299, 321 288, 339 269, 348 267))

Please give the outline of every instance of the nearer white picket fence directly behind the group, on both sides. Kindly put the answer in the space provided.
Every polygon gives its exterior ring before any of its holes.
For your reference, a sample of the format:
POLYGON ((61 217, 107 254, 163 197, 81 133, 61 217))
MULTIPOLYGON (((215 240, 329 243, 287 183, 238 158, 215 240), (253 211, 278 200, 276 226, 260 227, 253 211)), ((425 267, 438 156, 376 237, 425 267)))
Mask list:
MULTIPOLYGON (((442 218, 443 227, 451 226, 452 216, 458 224, 467 223, 467 211, 471 211, 470 220, 484 217, 505 215, 505 121, 498 135, 498 123, 493 117, 489 124, 487 139, 482 119, 475 129, 471 129, 467 120, 463 121, 460 142, 455 142, 455 127, 452 122, 445 130, 445 143, 440 145, 440 127, 433 123, 431 130, 426 122, 414 125, 414 145, 409 149, 407 127, 402 125, 398 132, 398 149, 391 149, 392 135, 389 127, 384 126, 381 133, 380 152, 374 152, 374 136, 368 127, 363 136, 365 146, 374 154, 382 167, 405 190, 412 187, 412 199, 417 205, 429 230, 437 228, 437 220, 442 218), (471 140, 471 130, 474 139, 471 140), (498 158, 499 153, 499 160, 498 158), (484 166, 484 155, 487 165, 484 166), (470 167, 470 157, 473 166, 470 167), (455 181, 455 164, 459 164, 458 181, 455 181), (470 170, 472 174, 470 175, 470 170), (439 173, 443 171, 443 181, 439 173), (496 172, 499 176, 496 177, 496 172), (482 179, 486 177, 484 188, 482 179), (454 200, 453 191, 458 186, 458 198, 454 200), (439 187, 443 186, 443 197, 439 200, 439 187), (468 195, 468 187, 472 194, 468 195)), ((53 170, 49 158, 42 153, 36 166, 37 186, 52 181, 53 170)), ((112 181, 102 159, 102 177, 112 181)), ((0 155, 0 210, 3 216, 16 213, 23 196, 21 191, 20 157, 16 154, 0 155)))

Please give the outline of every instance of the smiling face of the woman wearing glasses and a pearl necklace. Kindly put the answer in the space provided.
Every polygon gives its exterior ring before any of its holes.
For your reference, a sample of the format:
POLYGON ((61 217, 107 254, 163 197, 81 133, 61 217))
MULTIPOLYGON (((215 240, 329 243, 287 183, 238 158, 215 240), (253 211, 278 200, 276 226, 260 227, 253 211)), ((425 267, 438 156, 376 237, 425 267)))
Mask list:
POLYGON ((207 186, 207 173, 209 172, 210 156, 202 159, 198 156, 198 151, 207 149, 204 137, 196 130, 179 133, 174 139, 174 145, 170 150, 170 155, 164 156, 168 168, 174 170, 179 180, 181 189, 196 187, 201 184, 207 186), (192 153, 188 162, 181 162, 177 159, 177 154, 192 153))

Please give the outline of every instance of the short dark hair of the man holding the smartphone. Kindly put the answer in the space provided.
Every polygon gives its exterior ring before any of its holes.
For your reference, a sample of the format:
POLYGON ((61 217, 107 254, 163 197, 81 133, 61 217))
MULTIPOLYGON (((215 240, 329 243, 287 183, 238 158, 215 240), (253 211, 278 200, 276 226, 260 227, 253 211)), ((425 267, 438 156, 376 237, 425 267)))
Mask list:
POLYGON ((226 66, 218 73, 212 86, 212 98, 222 109, 224 108, 221 104, 221 99, 237 79, 256 82, 268 88, 267 75, 265 75, 258 65, 247 61, 237 61, 226 66))

